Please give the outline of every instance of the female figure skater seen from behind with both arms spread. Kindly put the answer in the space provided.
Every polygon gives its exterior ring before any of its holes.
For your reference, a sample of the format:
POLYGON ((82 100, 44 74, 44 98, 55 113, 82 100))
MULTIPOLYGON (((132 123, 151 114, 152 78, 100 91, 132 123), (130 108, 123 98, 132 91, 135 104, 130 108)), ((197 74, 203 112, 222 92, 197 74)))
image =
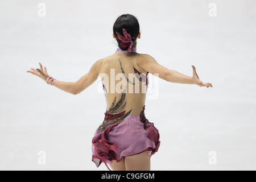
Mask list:
POLYGON ((135 16, 123 14, 115 20, 113 38, 118 48, 110 56, 97 60, 89 72, 76 82, 64 82, 49 76, 46 67, 31 68, 29 73, 71 94, 79 94, 101 77, 106 98, 103 122, 92 138, 92 161, 96 166, 103 162, 113 170, 150 170, 150 158, 160 146, 159 131, 144 115, 148 86, 148 73, 180 84, 212 87, 200 81, 192 65, 193 76, 185 76, 167 69, 154 57, 136 51, 141 38, 135 16), (119 81, 121 80, 121 81, 119 81))

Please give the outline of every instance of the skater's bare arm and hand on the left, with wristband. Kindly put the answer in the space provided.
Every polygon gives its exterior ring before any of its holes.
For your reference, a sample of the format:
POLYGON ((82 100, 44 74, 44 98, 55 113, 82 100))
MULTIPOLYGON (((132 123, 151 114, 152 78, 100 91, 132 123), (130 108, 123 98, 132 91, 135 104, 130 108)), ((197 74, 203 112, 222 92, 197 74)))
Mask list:
MULTIPOLYGON (((76 82, 53 80, 52 85, 56 86, 61 90, 64 90, 65 92, 72 93, 72 94, 79 94, 80 92, 82 92, 82 90, 85 90, 86 88, 88 88, 88 86, 92 85, 93 82, 97 80, 97 77, 101 71, 102 63, 103 63, 103 59, 96 61, 90 68, 90 71, 86 73, 84 76, 82 76, 76 82)), ((40 69, 35 70, 34 68, 31 68, 32 71, 27 71, 27 72, 32 73, 33 75, 39 76, 44 81, 46 81, 46 78, 49 76, 47 73, 47 69, 46 67, 44 67, 43 69, 43 66, 41 63, 39 63, 39 65, 40 65, 40 69)))

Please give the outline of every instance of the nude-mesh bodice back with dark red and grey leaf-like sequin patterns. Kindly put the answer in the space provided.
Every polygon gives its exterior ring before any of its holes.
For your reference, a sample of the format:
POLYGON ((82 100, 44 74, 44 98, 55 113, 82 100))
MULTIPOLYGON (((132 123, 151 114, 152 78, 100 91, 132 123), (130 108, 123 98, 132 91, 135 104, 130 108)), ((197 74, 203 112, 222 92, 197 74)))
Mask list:
POLYGON ((144 118, 144 103, 148 86, 148 72, 140 71, 138 53, 114 53, 104 60, 101 69, 102 88, 107 103, 104 122, 98 131, 113 123, 122 122, 128 115, 144 118))

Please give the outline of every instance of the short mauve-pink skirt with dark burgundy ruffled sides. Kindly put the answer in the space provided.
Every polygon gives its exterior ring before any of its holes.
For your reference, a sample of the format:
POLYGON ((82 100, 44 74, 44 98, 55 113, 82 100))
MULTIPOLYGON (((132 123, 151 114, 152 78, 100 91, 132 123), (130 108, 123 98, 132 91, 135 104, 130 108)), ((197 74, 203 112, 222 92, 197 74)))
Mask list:
POLYGON ((96 130, 92 139, 92 161, 97 167, 104 162, 109 169, 107 163, 112 164, 112 160, 119 162, 125 156, 146 150, 151 151, 151 157, 159 146, 159 131, 154 123, 141 122, 140 115, 128 115, 100 133, 96 130))

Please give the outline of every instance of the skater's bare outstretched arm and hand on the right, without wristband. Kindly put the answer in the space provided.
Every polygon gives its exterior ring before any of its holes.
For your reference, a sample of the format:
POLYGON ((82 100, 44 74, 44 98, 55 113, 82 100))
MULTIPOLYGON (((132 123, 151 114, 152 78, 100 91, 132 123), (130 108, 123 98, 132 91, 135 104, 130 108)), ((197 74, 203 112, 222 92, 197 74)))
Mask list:
POLYGON ((175 70, 163 67, 156 62, 154 57, 147 54, 141 54, 140 56, 138 56, 137 64, 145 72, 150 72, 152 75, 155 75, 155 73, 157 73, 159 78, 162 78, 169 82, 175 82, 180 84, 196 84, 199 86, 207 86, 207 88, 209 86, 212 86, 211 83, 203 83, 202 81, 200 81, 199 76, 196 73, 196 68, 193 65, 193 76, 191 77, 183 75, 182 73, 179 73, 175 70))

